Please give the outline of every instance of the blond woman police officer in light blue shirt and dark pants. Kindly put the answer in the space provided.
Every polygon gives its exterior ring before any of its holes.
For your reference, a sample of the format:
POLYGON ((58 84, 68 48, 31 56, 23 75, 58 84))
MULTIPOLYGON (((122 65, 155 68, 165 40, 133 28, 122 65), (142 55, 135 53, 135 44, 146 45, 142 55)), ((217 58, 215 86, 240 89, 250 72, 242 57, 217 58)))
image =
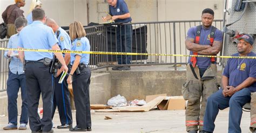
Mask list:
MULTIPOLYGON (((69 35, 72 40, 72 49, 78 51, 90 51, 90 42, 85 37, 83 25, 75 21, 69 25, 69 35)), ((74 101, 77 109, 75 128, 70 131, 91 131, 91 112, 89 86, 91 71, 88 67, 89 54, 71 54, 71 71, 68 84, 72 83, 74 101), (73 79, 72 79, 73 78, 73 79)))

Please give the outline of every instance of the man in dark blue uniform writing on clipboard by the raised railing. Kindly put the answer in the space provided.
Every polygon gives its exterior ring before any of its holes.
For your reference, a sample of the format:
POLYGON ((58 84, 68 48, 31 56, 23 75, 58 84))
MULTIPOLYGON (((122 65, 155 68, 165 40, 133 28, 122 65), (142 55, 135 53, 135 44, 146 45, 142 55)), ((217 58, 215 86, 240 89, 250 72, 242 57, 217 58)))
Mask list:
MULTIPOLYGON (((107 0, 109 3, 109 16, 103 18, 106 20, 114 20, 120 23, 117 26, 117 51, 131 53, 132 45, 132 25, 123 23, 131 23, 129 9, 124 0, 107 0)), ((117 55, 118 64, 131 64, 131 55, 117 55)), ((131 70, 130 67, 113 67, 112 70, 131 70)))

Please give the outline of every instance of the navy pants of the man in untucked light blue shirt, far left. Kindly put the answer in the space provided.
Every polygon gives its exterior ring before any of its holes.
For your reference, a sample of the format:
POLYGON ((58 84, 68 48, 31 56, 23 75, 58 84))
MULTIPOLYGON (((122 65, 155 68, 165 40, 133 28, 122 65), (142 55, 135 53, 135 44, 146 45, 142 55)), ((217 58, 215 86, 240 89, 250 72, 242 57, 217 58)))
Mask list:
POLYGON ((19 87, 21 87, 22 96, 22 113, 19 123, 28 124, 28 102, 27 102, 27 91, 26 91, 26 77, 25 74, 18 75, 9 71, 7 80, 7 95, 8 95, 8 120, 9 123, 17 125, 17 98, 19 87))

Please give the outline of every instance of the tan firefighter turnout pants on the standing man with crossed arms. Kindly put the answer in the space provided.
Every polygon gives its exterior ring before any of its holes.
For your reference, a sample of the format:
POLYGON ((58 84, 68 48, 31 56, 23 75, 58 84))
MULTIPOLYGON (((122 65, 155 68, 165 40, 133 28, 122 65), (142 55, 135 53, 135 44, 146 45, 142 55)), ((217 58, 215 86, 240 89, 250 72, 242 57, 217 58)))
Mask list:
POLYGON ((211 64, 204 75, 200 77, 199 68, 186 67, 186 83, 182 88, 185 100, 188 100, 186 107, 186 131, 203 130, 204 114, 207 98, 219 90, 216 82, 217 65, 211 64), (201 106, 201 107, 200 107, 201 106))

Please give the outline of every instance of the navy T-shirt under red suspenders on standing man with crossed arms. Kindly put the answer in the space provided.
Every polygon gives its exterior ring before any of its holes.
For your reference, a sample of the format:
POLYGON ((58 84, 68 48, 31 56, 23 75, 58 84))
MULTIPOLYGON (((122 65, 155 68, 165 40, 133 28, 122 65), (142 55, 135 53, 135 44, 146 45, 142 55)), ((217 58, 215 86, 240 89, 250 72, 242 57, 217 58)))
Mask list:
MULTIPOLYGON (((204 28, 202 26, 200 40, 199 40, 200 45, 211 45, 211 42, 210 42, 211 29, 212 29, 212 26, 209 28, 204 28)), ((197 26, 191 27, 190 29, 188 29, 187 38, 192 38, 196 40, 196 35, 197 35, 197 26)), ((222 42, 223 41, 222 36, 223 36, 223 33, 219 29, 216 29, 214 33, 214 41, 222 42)), ((190 51, 190 55, 193 55, 192 51, 190 51)), ((190 61, 190 58, 191 57, 188 58, 188 63, 192 64, 192 62, 190 61)), ((208 68, 210 64, 211 64, 211 58, 197 57, 198 68, 208 68)))

